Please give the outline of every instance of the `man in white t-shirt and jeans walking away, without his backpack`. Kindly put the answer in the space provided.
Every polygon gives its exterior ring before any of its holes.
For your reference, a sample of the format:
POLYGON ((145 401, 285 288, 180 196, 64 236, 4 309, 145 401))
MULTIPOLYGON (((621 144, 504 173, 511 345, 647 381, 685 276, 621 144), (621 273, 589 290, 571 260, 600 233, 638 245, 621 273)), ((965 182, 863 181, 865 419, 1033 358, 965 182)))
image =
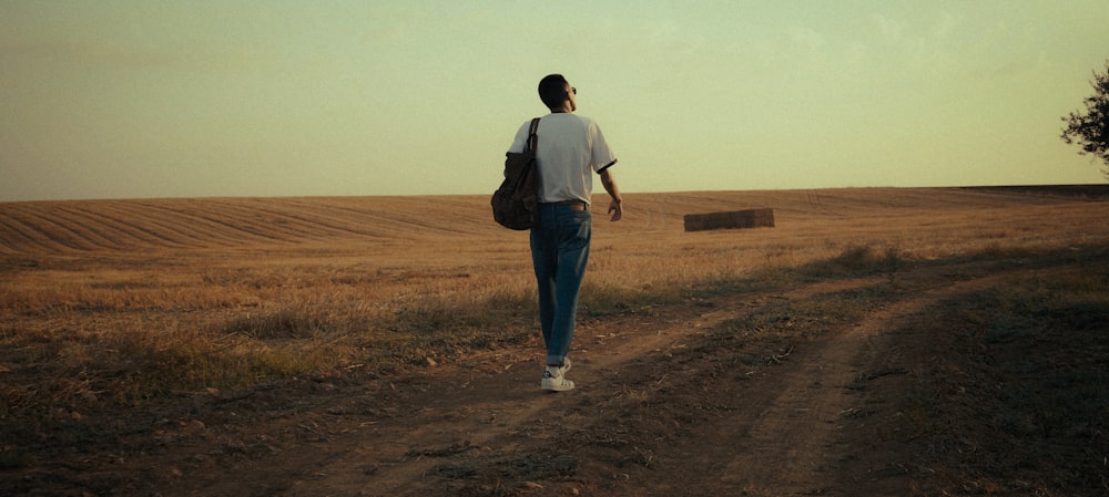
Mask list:
MULTIPOLYGON (((611 220, 623 216, 622 198, 612 178, 615 156, 592 120, 574 115, 578 90, 561 74, 539 82, 539 97, 550 108, 536 132, 539 169, 539 226, 531 229, 531 261, 539 283, 539 321, 547 345, 542 390, 573 389, 570 341, 578 312, 578 293, 589 260, 592 217, 589 213, 593 173, 612 198, 611 220)), ((531 122, 523 123, 509 152, 523 152, 531 122)))

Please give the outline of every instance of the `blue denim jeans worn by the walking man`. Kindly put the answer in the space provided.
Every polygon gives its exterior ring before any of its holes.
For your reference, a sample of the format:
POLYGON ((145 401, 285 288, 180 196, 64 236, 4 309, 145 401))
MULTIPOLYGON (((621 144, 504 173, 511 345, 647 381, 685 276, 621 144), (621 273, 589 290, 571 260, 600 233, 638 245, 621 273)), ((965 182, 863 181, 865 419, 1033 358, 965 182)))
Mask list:
POLYGON ((570 351, 592 227, 588 210, 540 205, 539 226, 531 229, 531 262, 539 283, 539 324, 550 365, 562 365, 570 351))

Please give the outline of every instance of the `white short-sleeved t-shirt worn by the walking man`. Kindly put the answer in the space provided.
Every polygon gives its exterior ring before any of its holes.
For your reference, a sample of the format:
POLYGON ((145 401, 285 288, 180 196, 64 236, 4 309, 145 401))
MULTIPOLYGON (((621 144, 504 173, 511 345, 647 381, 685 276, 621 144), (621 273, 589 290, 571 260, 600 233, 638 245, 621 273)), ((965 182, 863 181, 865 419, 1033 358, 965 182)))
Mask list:
MULTIPOLYGON (((523 152, 530 128, 531 120, 528 120, 516 133, 508 152, 523 152)), ((539 121, 536 136, 539 143, 536 149, 539 201, 582 200, 589 204, 593 193, 592 174, 617 162, 601 128, 589 117, 553 113, 539 121)))

